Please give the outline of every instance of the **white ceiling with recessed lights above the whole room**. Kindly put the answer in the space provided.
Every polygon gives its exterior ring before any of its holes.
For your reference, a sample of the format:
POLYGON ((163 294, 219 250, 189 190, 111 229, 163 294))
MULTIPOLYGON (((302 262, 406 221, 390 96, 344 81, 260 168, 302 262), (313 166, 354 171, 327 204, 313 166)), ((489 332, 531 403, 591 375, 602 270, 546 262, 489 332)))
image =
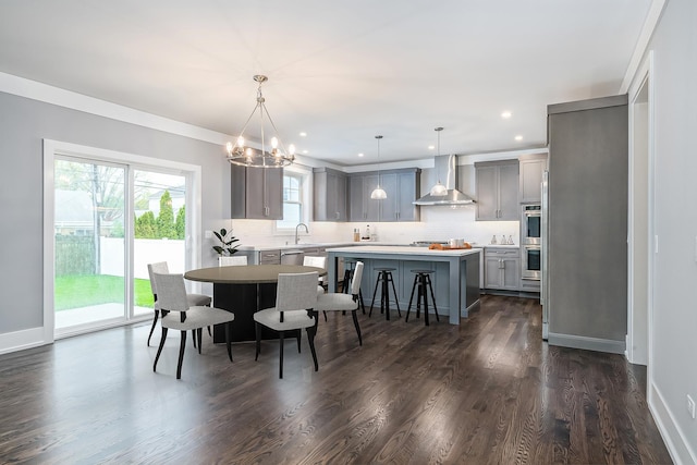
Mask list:
POLYGON ((382 162, 429 158, 436 126, 441 155, 509 151, 546 145, 547 105, 620 90, 650 3, 2 1, 0 71, 224 134, 266 74, 285 145, 335 164, 376 134, 382 162))

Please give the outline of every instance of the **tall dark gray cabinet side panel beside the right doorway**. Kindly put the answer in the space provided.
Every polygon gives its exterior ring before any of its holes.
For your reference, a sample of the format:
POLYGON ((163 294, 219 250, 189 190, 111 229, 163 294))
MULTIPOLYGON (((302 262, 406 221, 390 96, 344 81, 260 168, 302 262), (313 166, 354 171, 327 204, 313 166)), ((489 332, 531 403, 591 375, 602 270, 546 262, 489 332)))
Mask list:
POLYGON ((549 235, 543 287, 550 344, 625 350, 627 100, 620 95, 550 105, 547 110, 549 235))

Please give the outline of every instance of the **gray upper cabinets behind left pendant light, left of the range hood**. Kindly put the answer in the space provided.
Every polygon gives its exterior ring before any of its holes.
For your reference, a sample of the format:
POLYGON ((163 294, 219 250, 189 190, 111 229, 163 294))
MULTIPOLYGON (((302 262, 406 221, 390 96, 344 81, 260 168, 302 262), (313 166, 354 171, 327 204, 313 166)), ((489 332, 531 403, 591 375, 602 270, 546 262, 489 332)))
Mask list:
POLYGON ((374 200, 370 194, 378 185, 378 173, 352 174, 348 182, 351 221, 418 221, 419 169, 380 172, 380 186, 388 198, 374 200))

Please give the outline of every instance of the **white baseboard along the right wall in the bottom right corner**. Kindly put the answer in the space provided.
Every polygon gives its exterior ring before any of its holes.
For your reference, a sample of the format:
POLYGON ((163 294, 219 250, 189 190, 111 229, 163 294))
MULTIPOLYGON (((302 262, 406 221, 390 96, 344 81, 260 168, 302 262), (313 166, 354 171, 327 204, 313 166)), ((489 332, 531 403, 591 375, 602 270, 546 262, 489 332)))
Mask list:
POLYGON ((688 441, 685 440, 685 433, 675 421, 661 391, 653 383, 649 383, 648 404, 673 463, 677 465, 697 464, 697 454, 690 449, 688 441))

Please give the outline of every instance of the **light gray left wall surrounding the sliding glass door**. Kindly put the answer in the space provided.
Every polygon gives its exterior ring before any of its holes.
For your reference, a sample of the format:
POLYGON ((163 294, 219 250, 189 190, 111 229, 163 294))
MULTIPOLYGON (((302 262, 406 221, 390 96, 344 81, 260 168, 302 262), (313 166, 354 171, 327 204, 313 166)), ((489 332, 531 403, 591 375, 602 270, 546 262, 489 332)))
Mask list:
POLYGON ((204 229, 230 218, 221 146, 3 93, 0 121, 0 335, 42 326, 44 138, 199 164, 204 229))

